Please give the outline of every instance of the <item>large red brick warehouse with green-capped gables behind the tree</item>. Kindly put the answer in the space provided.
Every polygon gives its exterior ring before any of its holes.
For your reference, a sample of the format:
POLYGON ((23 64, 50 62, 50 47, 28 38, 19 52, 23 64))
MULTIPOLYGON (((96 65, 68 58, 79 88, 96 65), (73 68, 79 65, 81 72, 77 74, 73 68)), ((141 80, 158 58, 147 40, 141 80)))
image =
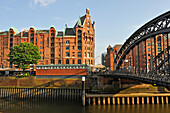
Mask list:
POLYGON ((14 67, 7 61, 10 48, 28 42, 38 46, 41 60, 38 65, 50 64, 90 64, 94 65, 95 22, 91 22, 90 10, 79 17, 73 28, 65 26, 57 31, 54 26, 49 30, 29 30, 18 32, 14 27, 0 32, 0 67, 14 67))

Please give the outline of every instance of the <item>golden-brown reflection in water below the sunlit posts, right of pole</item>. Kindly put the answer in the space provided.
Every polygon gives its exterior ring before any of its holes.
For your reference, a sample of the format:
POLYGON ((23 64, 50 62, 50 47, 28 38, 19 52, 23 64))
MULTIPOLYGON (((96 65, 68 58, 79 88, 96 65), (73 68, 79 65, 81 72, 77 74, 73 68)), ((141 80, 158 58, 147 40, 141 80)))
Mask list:
POLYGON ((86 113, 170 113, 170 105, 145 104, 88 106, 86 107, 86 113))

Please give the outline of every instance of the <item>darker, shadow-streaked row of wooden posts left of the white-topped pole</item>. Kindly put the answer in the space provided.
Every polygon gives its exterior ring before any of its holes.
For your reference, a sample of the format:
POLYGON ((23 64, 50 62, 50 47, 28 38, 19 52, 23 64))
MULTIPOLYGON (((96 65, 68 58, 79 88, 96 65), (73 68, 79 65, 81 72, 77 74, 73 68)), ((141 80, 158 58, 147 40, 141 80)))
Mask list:
MULTIPOLYGON (((86 92, 89 92, 86 89, 86 92)), ((81 101, 82 89, 74 88, 0 88, 1 99, 81 101)))

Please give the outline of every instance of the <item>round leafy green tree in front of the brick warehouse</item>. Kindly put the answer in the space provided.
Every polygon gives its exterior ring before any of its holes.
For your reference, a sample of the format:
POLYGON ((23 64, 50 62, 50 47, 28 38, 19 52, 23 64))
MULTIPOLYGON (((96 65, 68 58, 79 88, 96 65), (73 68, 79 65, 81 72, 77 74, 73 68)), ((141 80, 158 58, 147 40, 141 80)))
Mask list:
POLYGON ((8 57, 10 63, 14 64, 16 68, 23 69, 23 71, 28 69, 30 64, 37 64, 38 60, 41 59, 38 47, 27 42, 12 47, 8 57))

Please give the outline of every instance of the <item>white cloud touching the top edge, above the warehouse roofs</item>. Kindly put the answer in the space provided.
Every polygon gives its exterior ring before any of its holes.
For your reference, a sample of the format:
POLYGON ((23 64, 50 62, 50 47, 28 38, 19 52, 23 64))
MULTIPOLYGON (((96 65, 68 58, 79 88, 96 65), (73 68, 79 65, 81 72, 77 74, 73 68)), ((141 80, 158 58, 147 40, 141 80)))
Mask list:
POLYGON ((40 4, 42 7, 46 7, 47 5, 56 2, 57 0, 33 0, 30 2, 30 7, 34 8, 37 4, 40 4))

